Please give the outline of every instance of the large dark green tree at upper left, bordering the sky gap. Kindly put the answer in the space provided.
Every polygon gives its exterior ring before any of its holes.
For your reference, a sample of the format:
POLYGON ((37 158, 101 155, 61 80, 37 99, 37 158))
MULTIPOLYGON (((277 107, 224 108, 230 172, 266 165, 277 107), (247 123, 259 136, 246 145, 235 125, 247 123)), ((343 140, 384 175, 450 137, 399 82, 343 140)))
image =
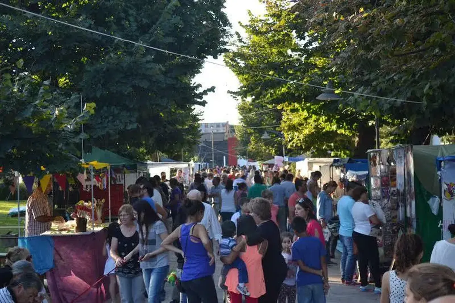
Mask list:
MULTIPOLYGON (((223 51, 229 22, 224 0, 9 1, 32 12, 204 59, 223 51)), ((192 81, 202 61, 151 50, 1 8, 0 57, 37 79, 95 102, 87 143, 144 160, 155 151, 181 154, 199 137, 193 112, 204 105, 192 81)))

